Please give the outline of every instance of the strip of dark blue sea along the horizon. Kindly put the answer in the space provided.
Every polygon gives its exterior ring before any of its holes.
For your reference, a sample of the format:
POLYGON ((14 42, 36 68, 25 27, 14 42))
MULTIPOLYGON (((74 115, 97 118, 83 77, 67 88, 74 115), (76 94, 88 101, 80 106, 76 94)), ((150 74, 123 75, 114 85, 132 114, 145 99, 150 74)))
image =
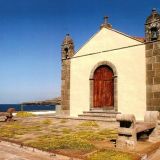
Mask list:
POLYGON ((0 112, 6 112, 8 108, 16 111, 55 111, 55 105, 0 104, 0 112))

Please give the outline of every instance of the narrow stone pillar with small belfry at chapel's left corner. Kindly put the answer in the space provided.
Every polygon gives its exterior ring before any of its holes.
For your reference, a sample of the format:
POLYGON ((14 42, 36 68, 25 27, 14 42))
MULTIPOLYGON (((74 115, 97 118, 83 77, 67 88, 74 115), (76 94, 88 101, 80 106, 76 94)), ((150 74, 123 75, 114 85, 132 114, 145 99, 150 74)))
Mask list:
POLYGON ((70 59, 73 55, 74 43, 67 34, 62 43, 61 107, 63 115, 69 115, 70 110, 70 59))

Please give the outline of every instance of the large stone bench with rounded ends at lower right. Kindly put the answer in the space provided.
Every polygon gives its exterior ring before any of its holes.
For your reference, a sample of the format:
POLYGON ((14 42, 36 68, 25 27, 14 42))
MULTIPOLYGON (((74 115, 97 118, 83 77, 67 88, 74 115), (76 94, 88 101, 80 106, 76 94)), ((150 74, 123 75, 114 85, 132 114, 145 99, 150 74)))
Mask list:
MULTIPOLYGON (((119 122, 117 147, 134 146, 138 135, 147 134, 154 136, 159 122, 158 111, 147 111, 143 122, 136 122, 133 114, 118 114, 119 122)), ((149 137, 150 137, 149 136, 149 137)))

